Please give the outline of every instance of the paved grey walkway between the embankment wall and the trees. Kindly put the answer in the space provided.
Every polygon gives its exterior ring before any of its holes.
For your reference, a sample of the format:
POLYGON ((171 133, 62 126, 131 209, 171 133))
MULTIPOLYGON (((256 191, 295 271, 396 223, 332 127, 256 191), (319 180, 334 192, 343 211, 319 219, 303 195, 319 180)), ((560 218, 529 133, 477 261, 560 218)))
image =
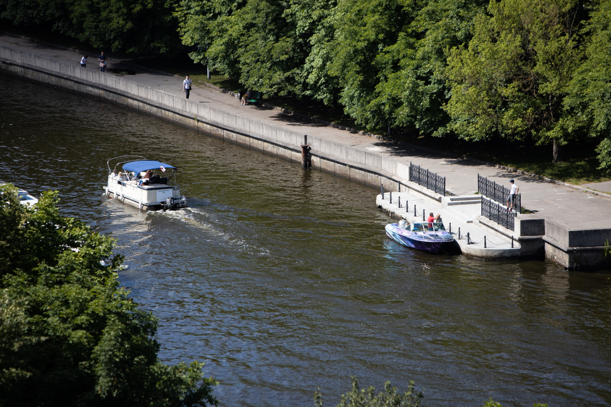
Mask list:
MULTIPOLYGON (((77 67, 81 59, 81 55, 77 52, 9 35, 0 34, 0 45, 71 63, 77 67)), ((90 54, 87 70, 99 69, 97 57, 97 54, 90 54)), ((112 54, 108 57, 108 68, 130 67, 136 70, 136 75, 128 76, 130 81, 158 88, 172 95, 184 95, 182 79, 139 67, 137 64, 134 65, 134 62, 137 61, 126 57, 115 57, 112 54)), ((114 75, 109 72, 106 74, 114 75)), ((413 162, 438 175, 445 176, 446 189, 455 195, 470 195, 477 191, 478 174, 505 185, 505 187, 509 187, 509 179, 515 179, 519 192, 522 194, 522 206, 535 212, 530 215, 521 215, 521 217, 549 218, 570 230, 611 228, 611 199, 607 196, 595 195, 529 176, 510 173, 474 160, 458 159, 451 154, 431 153, 422 149, 396 146, 367 135, 354 134, 288 115, 276 109, 241 106, 237 98, 214 88, 194 88, 191 92, 191 100, 209 103, 216 109, 237 113, 263 123, 292 129, 302 134, 315 135, 321 139, 343 143, 381 156, 393 157, 408 165, 409 162, 413 162)), ((443 150, 444 140, 439 141, 439 149, 443 150)))

